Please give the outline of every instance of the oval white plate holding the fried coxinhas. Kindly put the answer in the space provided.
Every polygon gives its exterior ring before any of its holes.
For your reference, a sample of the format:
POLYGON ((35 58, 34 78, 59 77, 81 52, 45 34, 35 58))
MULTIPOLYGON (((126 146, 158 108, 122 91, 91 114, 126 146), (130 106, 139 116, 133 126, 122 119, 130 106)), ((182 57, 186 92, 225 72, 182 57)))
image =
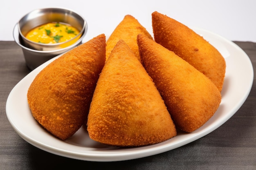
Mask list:
POLYGON ((134 148, 117 148, 99 144, 88 137, 83 127, 66 141, 57 139, 37 123, 27 104, 27 90, 34 77, 56 57, 29 73, 9 94, 6 113, 13 129, 25 141, 42 150, 87 161, 121 161, 146 157, 178 148, 209 134, 224 124, 245 102, 252 88, 253 67, 246 53, 233 42, 209 31, 194 30, 215 46, 227 63, 220 107, 215 115, 198 130, 191 133, 179 132, 176 137, 162 143, 134 148))

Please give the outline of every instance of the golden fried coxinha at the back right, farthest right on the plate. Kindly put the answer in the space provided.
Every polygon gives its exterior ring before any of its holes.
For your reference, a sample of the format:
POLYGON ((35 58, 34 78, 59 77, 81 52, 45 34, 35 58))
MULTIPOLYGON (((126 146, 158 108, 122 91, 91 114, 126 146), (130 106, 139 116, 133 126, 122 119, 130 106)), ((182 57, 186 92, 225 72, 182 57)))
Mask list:
POLYGON ((226 62, 216 48, 189 27, 161 13, 152 13, 152 26, 155 42, 189 62, 222 90, 226 62))

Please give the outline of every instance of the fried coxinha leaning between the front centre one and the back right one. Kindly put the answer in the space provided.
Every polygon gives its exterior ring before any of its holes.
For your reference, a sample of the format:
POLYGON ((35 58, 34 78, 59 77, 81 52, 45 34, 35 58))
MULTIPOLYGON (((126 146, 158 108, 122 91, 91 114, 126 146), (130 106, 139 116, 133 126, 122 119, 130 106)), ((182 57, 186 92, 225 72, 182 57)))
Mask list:
POLYGON ((155 41, 138 35, 141 61, 177 128, 192 132, 216 112, 221 95, 211 80, 155 41))

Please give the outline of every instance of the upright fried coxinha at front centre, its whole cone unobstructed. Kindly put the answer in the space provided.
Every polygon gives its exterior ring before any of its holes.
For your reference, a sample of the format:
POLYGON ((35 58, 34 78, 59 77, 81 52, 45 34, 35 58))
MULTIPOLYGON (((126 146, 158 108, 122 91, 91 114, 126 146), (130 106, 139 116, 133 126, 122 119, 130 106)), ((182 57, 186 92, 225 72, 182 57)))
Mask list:
POLYGON ((156 144, 176 135, 155 84, 123 40, 102 69, 87 130, 91 139, 111 146, 156 144))

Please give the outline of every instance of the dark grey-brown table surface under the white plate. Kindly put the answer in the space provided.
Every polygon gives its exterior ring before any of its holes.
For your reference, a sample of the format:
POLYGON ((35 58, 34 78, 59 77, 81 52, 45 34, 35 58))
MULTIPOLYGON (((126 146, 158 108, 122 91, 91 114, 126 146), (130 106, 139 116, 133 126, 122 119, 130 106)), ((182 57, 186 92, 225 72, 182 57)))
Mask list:
MULTIPOLYGON (((256 43, 235 42, 256 68, 256 43)), ((0 41, 0 170, 37 169, 188 169, 256 170, 256 86, 243 106, 225 124, 185 146, 158 155, 117 162, 90 162, 61 157, 23 140, 5 111, 12 88, 29 73, 21 48, 0 41)), ((255 74, 255 71, 254 71, 255 74)), ((15 106, 13 106, 15 107, 15 106)))

